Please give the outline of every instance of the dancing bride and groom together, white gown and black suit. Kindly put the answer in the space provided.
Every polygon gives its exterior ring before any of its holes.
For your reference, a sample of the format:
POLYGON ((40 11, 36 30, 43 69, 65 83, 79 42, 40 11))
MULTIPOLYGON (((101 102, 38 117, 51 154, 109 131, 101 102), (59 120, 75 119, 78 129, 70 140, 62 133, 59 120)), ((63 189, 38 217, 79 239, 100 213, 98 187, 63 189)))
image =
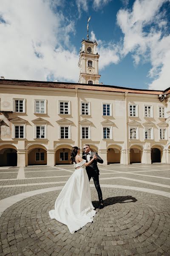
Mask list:
POLYGON ((74 163, 75 171, 68 179, 60 192, 55 209, 49 211, 50 218, 68 226, 71 234, 93 221, 96 213, 91 202, 89 181, 94 180, 99 196, 99 209, 103 208, 102 191, 99 184, 99 169, 97 163, 103 160, 97 153, 91 151, 88 144, 83 145, 84 155, 80 156, 80 149, 71 149, 71 163, 74 163))

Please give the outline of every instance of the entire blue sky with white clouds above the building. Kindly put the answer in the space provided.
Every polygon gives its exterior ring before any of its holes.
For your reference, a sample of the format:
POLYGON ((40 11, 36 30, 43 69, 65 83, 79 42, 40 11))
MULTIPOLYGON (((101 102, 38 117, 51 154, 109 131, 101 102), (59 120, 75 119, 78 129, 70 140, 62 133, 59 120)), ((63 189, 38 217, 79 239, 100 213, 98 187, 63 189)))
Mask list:
POLYGON ((100 82, 170 87, 170 0, 1 0, 0 76, 77 82, 90 15, 100 82))

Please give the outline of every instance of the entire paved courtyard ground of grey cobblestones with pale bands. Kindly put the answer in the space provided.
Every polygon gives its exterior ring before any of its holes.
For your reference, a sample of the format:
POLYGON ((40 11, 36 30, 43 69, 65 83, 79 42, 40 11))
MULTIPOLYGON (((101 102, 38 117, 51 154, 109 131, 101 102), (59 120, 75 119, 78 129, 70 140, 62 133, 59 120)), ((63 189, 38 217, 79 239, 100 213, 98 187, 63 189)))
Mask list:
POLYGON ((0 256, 170 255, 170 165, 99 169, 105 207, 70 234, 48 211, 73 166, 0 167, 0 256))

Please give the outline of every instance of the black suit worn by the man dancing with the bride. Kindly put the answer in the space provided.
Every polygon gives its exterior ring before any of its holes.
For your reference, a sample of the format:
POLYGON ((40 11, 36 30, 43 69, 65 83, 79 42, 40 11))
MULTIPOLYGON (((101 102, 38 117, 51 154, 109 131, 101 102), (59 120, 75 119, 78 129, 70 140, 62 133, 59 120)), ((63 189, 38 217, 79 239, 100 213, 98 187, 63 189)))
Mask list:
MULTIPOLYGON (((86 171, 88 174, 89 181, 91 180, 91 177, 94 180, 94 185, 96 187, 96 190, 97 190, 97 193, 99 196, 99 204, 101 204, 103 202, 103 199, 102 199, 102 190, 101 190, 100 184, 99 184, 99 169, 97 167, 97 162, 103 163, 103 160, 102 160, 102 158, 99 157, 99 155, 97 153, 94 153, 94 152, 91 152, 90 160, 93 158, 94 154, 96 154, 97 160, 94 159, 93 162, 89 166, 86 166, 86 171)), ((86 162, 88 163, 87 154, 84 154, 82 156, 82 158, 84 160, 86 160, 86 162)))

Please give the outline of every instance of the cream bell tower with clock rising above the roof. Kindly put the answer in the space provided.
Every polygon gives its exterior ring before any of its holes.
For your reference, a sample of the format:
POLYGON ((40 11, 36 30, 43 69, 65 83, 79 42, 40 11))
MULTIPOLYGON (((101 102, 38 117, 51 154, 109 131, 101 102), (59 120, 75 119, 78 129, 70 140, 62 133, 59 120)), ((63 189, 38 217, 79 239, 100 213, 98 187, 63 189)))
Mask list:
POLYGON ((97 43, 96 41, 85 40, 83 38, 82 48, 80 50, 79 63, 80 84, 99 84, 99 69, 98 61, 99 54, 96 51, 97 43))

